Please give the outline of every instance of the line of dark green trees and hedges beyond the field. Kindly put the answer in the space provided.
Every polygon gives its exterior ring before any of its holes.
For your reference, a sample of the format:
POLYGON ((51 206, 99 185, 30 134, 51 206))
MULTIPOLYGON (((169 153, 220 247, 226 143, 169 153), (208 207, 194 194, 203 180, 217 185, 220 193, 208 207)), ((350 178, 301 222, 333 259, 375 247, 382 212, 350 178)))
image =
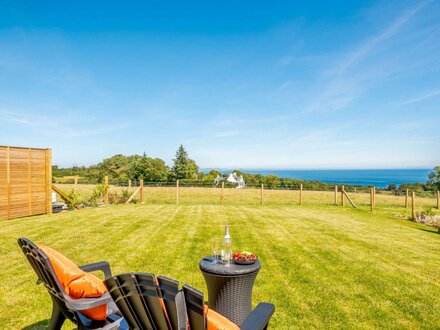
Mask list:
MULTIPOLYGON (((281 178, 276 175, 249 174, 239 170, 235 171, 237 175, 243 175, 247 186, 260 186, 264 184, 265 188, 285 188, 298 189, 301 184, 307 190, 333 190, 334 185, 320 182, 281 178)), ((212 185, 218 175, 223 175, 219 171, 211 170, 204 173, 199 170, 197 163, 191 159, 188 152, 181 145, 173 159, 173 166, 168 167, 160 158, 152 158, 143 155, 124 156, 114 155, 104 159, 102 162, 92 166, 72 166, 69 168, 59 168, 54 165, 52 174, 55 182, 65 182, 66 178, 73 176, 80 177, 81 183, 96 184, 103 182, 104 177, 109 177, 111 184, 127 185, 128 181, 144 182, 173 182, 180 180, 182 185, 189 183, 199 183, 202 185, 212 185)), ((226 186, 233 184, 226 182, 226 186)), ((356 188, 358 191, 367 191, 368 187, 345 185, 347 190, 356 188)), ((411 191, 423 192, 440 190, 440 166, 434 168, 429 175, 429 181, 425 183, 404 183, 400 186, 390 184, 386 190, 395 194, 409 189, 411 191)))

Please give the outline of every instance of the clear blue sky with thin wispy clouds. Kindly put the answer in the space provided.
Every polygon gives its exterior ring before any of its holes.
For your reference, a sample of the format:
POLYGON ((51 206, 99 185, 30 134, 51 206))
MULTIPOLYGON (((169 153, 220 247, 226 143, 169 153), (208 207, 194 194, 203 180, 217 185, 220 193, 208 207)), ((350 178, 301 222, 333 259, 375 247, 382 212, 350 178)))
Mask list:
POLYGON ((440 163, 439 1, 0 1, 0 144, 55 164, 440 163))

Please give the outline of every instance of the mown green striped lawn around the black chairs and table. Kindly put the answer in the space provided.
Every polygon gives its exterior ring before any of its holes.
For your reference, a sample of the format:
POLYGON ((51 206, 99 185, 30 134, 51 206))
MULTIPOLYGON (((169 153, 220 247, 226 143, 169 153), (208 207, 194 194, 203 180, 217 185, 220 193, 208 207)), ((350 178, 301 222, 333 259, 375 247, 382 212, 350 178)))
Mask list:
POLYGON ((397 219, 402 210, 137 204, 3 221, 0 328, 50 316, 21 236, 79 264, 108 260, 114 273, 165 275, 206 293, 198 261, 226 222, 236 250, 261 258, 253 302, 275 304, 272 328, 439 328, 440 235, 397 219))

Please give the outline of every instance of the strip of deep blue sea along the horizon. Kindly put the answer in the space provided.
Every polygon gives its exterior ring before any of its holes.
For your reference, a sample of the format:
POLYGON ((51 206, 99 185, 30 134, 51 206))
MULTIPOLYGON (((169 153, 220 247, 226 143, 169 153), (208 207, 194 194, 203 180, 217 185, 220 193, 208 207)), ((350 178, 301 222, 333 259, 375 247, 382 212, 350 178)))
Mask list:
MULTIPOLYGON (((203 169, 207 173, 211 169, 203 169)), ((221 173, 230 173, 230 169, 217 169, 221 173)), ((386 188, 389 184, 399 186, 402 183, 426 183, 432 169, 375 169, 375 170, 280 170, 280 169, 245 169, 238 170, 250 174, 276 175, 281 178, 316 180, 333 184, 355 186, 375 186, 386 188)))

